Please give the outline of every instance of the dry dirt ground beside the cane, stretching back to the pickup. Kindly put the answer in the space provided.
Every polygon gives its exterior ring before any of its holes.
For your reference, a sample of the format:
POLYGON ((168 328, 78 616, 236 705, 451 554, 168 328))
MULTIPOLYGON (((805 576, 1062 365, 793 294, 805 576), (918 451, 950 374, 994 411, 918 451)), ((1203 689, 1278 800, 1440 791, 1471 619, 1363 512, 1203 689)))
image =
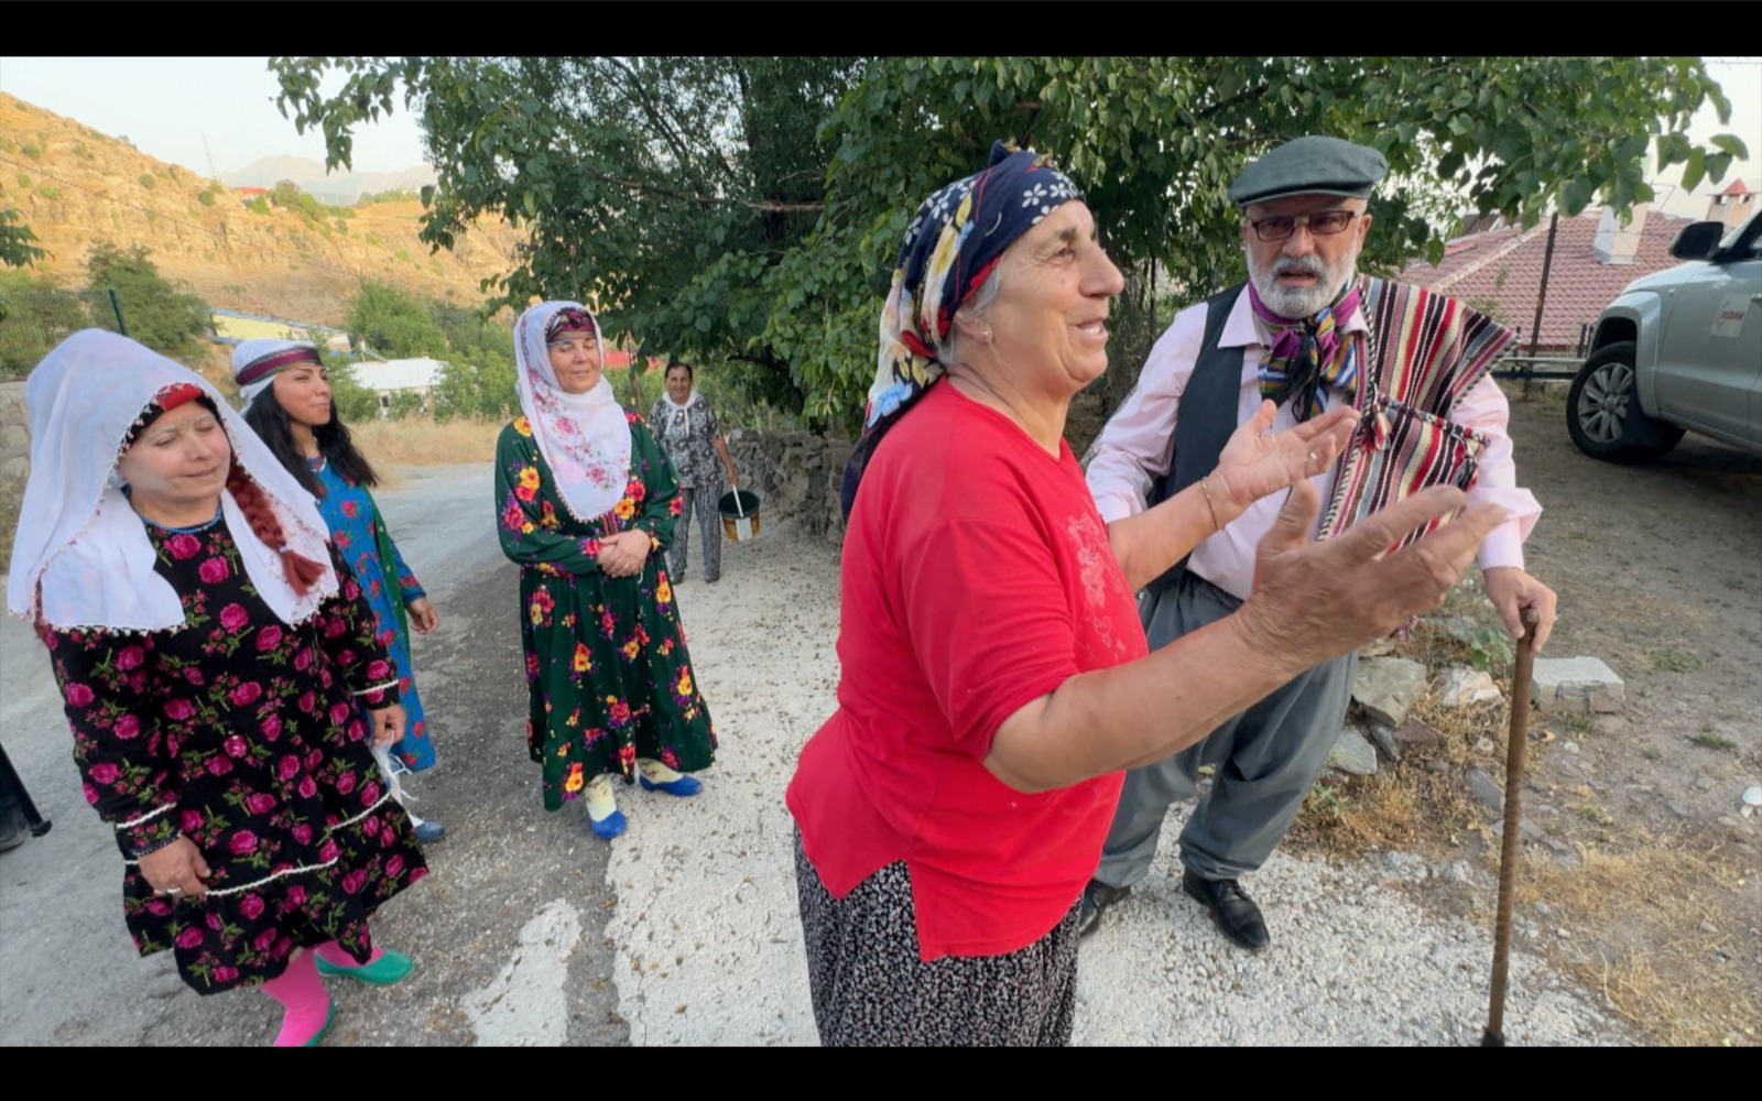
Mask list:
MULTIPOLYGON (((1563 388, 1536 389, 1512 437, 1545 509, 1528 567, 1559 594, 1542 657, 1602 659, 1625 706, 1531 717, 1515 925, 1658 1043, 1762 1043, 1762 812, 1743 805, 1762 784, 1762 454, 1688 435, 1647 465, 1595 462, 1563 388)), ((1468 763, 1503 779, 1489 733, 1468 763)), ((1413 840, 1496 868, 1491 817, 1413 840)), ((1433 893, 1491 913, 1485 891, 1433 893)))

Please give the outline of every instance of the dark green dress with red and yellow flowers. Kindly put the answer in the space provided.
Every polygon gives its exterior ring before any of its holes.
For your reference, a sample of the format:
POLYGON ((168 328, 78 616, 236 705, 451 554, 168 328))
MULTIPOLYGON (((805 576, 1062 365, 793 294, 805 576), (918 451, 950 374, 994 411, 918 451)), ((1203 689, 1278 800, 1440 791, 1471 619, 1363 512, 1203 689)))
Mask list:
POLYGON ((678 772, 708 768, 715 726, 698 694, 685 631, 661 553, 680 514, 666 453, 641 417, 631 425, 631 481, 611 513, 576 520, 518 417, 495 442, 497 534, 520 564, 527 747, 544 770, 544 809, 559 810, 601 773, 636 780, 636 759, 678 772), (599 539, 648 532, 643 573, 611 578, 599 539))

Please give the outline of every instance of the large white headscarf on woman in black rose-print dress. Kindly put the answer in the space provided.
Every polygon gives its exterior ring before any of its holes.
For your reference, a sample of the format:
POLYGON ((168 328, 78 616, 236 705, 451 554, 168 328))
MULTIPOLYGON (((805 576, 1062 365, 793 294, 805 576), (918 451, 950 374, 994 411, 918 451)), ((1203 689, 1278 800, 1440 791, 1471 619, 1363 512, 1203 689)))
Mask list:
POLYGON ((222 490, 227 530, 263 601, 284 624, 298 624, 337 592, 317 502, 220 391, 127 336, 83 329, 44 356, 25 382, 30 481, 7 574, 12 615, 58 629, 162 631, 183 624, 183 602, 153 571, 157 553, 116 476, 130 426, 157 395, 178 384, 194 384, 213 402, 233 458, 268 497, 287 550, 324 567, 305 595, 296 594, 282 574, 282 548, 266 546, 233 493, 222 490))

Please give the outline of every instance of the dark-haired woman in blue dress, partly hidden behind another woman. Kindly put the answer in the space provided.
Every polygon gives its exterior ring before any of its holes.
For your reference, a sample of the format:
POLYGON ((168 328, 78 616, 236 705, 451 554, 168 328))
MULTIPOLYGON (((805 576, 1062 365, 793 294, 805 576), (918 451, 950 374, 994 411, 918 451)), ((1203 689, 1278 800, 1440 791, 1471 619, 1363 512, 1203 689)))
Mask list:
MULTIPOLYGON (((428 634, 440 624, 428 594, 391 541, 386 521, 368 493, 379 484, 349 428, 331 409, 329 372, 312 344, 247 340, 233 349, 233 377, 245 398, 245 423, 270 446, 282 465, 319 499, 337 553, 354 571, 379 620, 379 639, 396 661, 398 694, 409 717, 403 738, 381 759, 388 782, 402 791, 396 773, 421 772, 435 763, 428 719, 411 671, 411 629, 428 634)), ((416 837, 437 842, 440 823, 418 817, 416 837)))

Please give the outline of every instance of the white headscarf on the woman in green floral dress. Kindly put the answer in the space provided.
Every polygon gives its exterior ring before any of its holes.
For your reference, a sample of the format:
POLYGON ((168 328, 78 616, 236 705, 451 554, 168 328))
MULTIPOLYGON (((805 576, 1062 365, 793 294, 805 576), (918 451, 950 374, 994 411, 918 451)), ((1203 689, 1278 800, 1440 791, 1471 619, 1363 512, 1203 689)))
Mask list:
POLYGON ((599 384, 585 395, 566 393, 557 384, 544 329, 562 310, 587 314, 604 363, 606 338, 599 319, 576 301, 543 301, 515 322, 515 389, 539 454, 557 477, 564 506, 576 520, 589 521, 610 513, 629 486, 631 426, 604 368, 599 384))

